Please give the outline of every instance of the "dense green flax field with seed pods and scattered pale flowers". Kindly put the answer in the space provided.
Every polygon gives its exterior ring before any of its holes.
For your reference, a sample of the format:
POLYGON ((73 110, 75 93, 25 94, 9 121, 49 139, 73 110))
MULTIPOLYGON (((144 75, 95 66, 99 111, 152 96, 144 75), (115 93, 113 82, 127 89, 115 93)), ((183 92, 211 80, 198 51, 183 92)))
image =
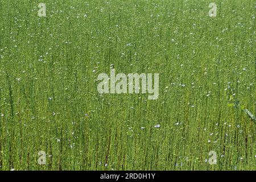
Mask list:
POLYGON ((255 170, 256 3, 211 2, 1 0, 0 170, 255 170))

